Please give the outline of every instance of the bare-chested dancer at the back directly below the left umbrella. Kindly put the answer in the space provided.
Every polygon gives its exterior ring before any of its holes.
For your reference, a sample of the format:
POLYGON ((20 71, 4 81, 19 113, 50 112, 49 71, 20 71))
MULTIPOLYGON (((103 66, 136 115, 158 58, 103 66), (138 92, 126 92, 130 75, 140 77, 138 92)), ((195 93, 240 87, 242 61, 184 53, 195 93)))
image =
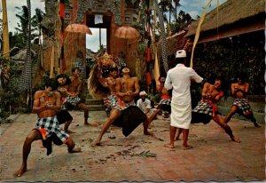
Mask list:
POLYGON ((82 91, 82 81, 79 79, 80 71, 78 68, 72 68, 71 84, 68 86, 68 95, 66 97, 66 108, 73 109, 74 106, 84 111, 84 124, 89 125, 89 107, 80 98, 82 91))

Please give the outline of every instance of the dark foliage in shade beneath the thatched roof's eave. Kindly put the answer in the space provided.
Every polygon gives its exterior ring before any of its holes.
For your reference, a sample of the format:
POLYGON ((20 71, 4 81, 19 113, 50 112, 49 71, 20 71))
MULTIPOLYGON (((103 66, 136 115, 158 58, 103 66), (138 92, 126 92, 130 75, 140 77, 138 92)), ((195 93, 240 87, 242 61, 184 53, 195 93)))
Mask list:
POLYGON ((236 74, 246 73, 250 83, 250 94, 264 94, 265 52, 263 31, 232 36, 214 42, 198 44, 194 57, 194 68, 207 80, 213 74, 222 74, 230 83, 236 74))

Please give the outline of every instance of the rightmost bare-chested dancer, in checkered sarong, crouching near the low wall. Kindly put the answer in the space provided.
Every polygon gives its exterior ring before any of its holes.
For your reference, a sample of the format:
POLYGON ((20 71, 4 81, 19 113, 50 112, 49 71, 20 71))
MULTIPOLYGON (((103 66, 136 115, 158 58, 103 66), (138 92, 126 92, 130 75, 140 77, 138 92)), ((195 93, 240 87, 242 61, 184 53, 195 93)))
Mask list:
POLYGON ((231 93, 235 100, 232 104, 231 111, 225 117, 225 123, 231 120, 232 115, 239 113, 239 115, 243 115, 246 119, 254 123, 255 127, 260 127, 246 99, 246 94, 249 91, 249 84, 246 82, 245 73, 239 73, 237 77, 238 82, 231 84, 231 93))

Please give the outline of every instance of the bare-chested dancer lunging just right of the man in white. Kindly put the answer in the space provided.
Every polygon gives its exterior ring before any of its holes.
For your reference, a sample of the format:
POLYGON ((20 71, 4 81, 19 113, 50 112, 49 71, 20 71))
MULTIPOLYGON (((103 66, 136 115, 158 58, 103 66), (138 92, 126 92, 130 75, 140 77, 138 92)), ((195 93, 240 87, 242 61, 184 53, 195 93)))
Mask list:
MULTIPOLYGON (((240 142, 240 139, 233 135, 231 127, 224 122, 223 116, 217 111, 215 103, 223 98, 224 92, 221 90, 222 77, 217 76, 215 84, 205 83, 202 90, 202 99, 197 107, 192 109, 192 123, 207 124, 213 119, 230 136, 232 141, 240 142)), ((176 139, 181 131, 178 130, 176 139)))

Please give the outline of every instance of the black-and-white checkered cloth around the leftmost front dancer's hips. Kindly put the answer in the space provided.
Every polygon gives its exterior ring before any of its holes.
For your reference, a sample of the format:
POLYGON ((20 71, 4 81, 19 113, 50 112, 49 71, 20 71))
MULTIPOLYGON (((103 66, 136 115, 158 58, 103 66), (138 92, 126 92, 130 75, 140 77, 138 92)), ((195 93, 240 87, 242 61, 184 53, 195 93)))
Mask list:
POLYGON ((35 129, 41 131, 43 139, 48 139, 51 137, 51 134, 54 133, 64 143, 69 137, 66 131, 60 128, 59 121, 56 116, 39 118, 35 125, 35 129), (43 133, 43 131, 45 132, 43 133))

